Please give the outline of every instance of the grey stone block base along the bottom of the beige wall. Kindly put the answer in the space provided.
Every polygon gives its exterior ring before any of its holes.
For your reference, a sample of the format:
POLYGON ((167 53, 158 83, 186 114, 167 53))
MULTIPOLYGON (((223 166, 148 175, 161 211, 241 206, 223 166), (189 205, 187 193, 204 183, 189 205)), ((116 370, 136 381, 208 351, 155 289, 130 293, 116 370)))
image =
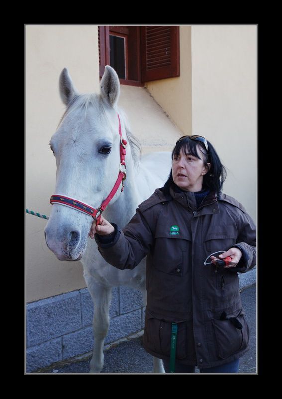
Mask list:
MULTIPOLYGON (((239 274, 240 290, 256 282, 256 268, 239 274)), ((26 371, 90 352, 93 302, 87 288, 27 304, 26 371)), ((145 313, 140 291, 112 290, 110 327, 105 344, 144 328, 145 313)))

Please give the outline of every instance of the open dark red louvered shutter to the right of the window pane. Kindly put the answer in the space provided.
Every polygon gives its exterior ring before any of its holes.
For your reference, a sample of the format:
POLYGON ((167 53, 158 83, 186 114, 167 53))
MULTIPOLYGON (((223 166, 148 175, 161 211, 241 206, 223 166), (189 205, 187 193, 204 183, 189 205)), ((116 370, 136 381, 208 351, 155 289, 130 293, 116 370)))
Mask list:
POLYGON ((180 76, 179 26, 141 26, 141 81, 180 76))

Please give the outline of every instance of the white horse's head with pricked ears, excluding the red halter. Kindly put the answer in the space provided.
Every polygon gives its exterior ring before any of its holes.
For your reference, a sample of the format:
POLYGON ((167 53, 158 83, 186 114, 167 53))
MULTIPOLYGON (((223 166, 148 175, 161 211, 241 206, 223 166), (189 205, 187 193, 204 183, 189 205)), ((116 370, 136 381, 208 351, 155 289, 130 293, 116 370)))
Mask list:
MULTIPOLYGON (((110 66, 105 68, 100 88, 99 94, 79 95, 67 69, 61 72, 60 95, 67 109, 50 140, 57 164, 55 193, 96 209, 112 190, 120 165, 120 83, 110 66)), ((121 129, 125 137, 122 118, 121 129)), ((45 228, 48 247, 59 260, 79 260, 92 221, 74 208, 54 204, 45 228)))

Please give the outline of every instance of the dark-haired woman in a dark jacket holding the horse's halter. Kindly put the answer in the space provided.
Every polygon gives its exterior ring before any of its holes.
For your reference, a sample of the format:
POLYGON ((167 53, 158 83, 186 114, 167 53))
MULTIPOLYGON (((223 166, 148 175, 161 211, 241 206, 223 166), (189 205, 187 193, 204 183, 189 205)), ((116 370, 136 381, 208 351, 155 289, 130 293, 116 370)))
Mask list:
POLYGON ((256 264, 255 224, 222 194, 225 177, 210 142, 183 136, 164 187, 122 230, 103 217, 91 227, 90 237, 95 233, 113 266, 132 269, 147 255, 143 346, 163 359, 166 372, 193 373, 198 366, 204 373, 236 373, 248 350, 237 273, 256 264), (220 258, 226 259, 221 267, 220 258))

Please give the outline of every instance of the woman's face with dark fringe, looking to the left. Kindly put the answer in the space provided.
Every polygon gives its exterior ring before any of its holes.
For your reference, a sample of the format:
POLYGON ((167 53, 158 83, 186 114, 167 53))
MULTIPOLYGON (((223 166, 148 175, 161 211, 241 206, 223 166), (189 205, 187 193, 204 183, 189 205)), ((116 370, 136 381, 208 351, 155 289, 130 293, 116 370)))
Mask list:
POLYGON ((172 160, 172 178, 174 183, 183 190, 187 191, 200 191, 202 190, 203 177, 210 168, 204 165, 204 154, 197 146, 197 158, 194 155, 185 154, 183 148, 180 154, 174 154, 172 160))

